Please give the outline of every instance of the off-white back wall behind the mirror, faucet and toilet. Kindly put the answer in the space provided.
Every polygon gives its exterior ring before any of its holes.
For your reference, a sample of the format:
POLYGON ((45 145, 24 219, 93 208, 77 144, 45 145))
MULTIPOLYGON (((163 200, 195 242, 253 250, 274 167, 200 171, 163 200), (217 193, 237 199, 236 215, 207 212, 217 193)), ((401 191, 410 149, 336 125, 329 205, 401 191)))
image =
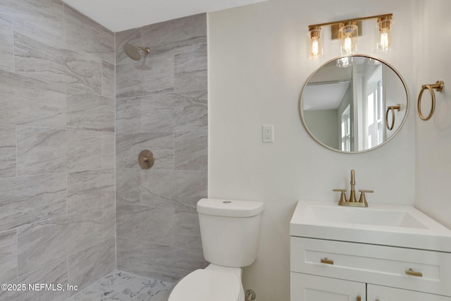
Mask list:
MULTIPOLYGON (((289 222, 298 199, 338 201, 332 189, 349 188, 354 168, 357 189, 375 190, 370 205, 414 204, 413 106, 394 140, 362 154, 321 147, 300 121, 304 82, 339 48, 326 38, 324 58, 307 60, 309 24, 393 13, 397 49, 378 57, 412 92, 412 1, 345 3, 272 0, 209 14, 209 197, 266 204, 259 257, 243 275, 245 290, 256 290, 259 301, 290 299, 289 222), (274 125, 273 144, 261 142, 264 124, 274 125)), ((364 23, 362 54, 374 54, 375 25, 364 23)))

